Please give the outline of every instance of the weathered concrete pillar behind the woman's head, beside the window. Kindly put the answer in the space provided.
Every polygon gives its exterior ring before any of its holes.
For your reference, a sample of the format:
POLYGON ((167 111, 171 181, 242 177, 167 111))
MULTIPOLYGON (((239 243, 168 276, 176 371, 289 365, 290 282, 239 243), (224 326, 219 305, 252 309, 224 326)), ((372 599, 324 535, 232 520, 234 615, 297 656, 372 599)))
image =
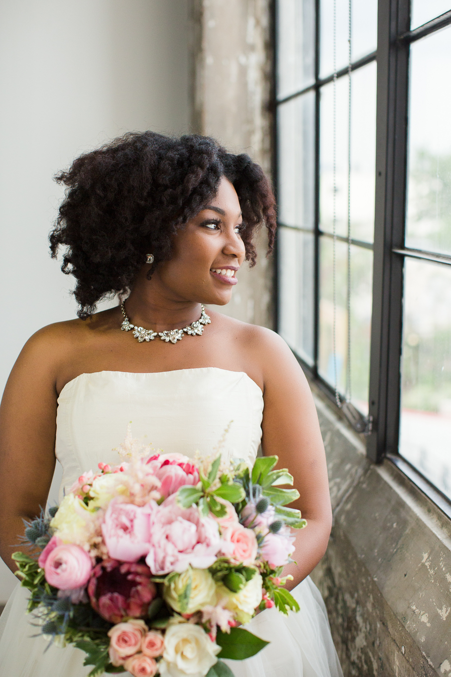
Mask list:
MULTIPOLYGON (((272 121, 270 0, 191 0, 192 129, 232 152, 247 152, 270 174, 272 121)), ((272 327, 272 264, 266 237, 258 263, 239 273, 227 315, 272 327)))

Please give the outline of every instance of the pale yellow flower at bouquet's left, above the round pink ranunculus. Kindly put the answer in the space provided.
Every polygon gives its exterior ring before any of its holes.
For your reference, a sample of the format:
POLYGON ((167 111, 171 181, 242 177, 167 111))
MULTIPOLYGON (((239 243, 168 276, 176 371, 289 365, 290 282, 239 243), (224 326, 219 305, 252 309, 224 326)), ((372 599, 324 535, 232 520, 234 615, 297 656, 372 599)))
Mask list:
POLYGON ((95 529, 95 513, 74 494, 64 496, 50 526, 63 543, 82 546, 95 529))

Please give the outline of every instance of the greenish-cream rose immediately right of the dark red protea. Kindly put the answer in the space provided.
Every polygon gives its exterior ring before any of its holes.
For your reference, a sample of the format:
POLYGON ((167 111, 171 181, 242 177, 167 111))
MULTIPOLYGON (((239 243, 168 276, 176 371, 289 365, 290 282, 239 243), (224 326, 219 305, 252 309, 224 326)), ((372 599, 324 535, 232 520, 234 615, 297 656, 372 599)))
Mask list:
POLYGON ((207 569, 191 569, 173 577, 168 586, 164 586, 164 599, 179 613, 194 613, 206 605, 214 605, 216 584, 207 569), (180 596, 187 591, 191 581, 191 591, 186 607, 181 608, 180 596))

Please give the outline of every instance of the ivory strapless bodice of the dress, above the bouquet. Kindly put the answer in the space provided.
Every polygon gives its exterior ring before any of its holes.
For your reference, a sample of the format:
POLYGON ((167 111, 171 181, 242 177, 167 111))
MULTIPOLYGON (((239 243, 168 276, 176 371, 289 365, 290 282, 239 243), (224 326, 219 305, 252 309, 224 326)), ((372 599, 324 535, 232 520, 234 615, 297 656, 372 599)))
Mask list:
POLYGON ((80 374, 60 393, 55 454, 64 487, 99 461, 116 464, 128 423, 155 450, 214 453, 253 462, 262 436, 262 391, 244 372, 216 367, 136 374, 80 374))

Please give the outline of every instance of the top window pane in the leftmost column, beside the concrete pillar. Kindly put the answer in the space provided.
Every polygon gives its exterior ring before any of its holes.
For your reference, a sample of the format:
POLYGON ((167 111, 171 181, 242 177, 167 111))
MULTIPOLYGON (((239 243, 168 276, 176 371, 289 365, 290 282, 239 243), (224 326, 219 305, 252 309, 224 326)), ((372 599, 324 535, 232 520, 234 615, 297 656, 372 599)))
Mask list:
POLYGON ((277 3, 277 96, 283 98, 314 81, 314 0, 277 3))

